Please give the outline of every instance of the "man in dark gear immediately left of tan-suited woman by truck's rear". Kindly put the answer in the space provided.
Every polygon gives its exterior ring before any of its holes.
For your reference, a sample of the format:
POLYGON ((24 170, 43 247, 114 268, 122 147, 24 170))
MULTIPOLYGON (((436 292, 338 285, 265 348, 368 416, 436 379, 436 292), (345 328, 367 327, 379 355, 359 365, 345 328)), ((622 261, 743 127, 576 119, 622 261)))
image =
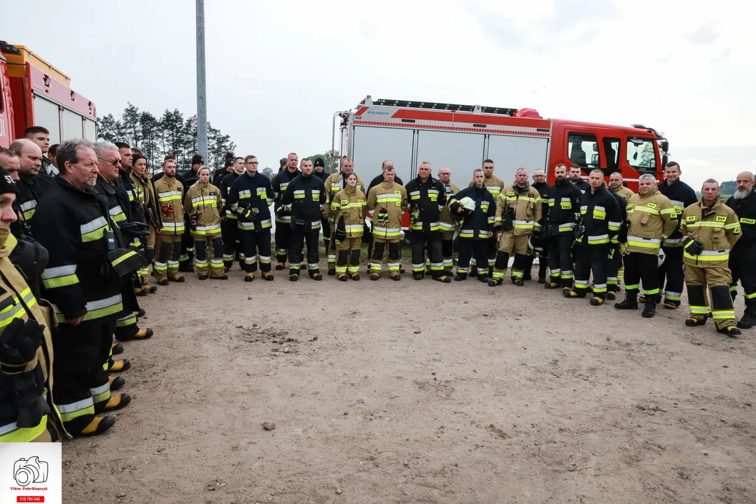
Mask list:
POLYGON ((318 262, 318 238, 321 235, 326 188, 318 177, 312 176, 312 161, 302 159, 302 175, 287 186, 281 196, 281 213, 291 212, 289 280, 299 280, 299 269, 305 243, 307 244, 307 272, 313 280, 323 280, 318 262))

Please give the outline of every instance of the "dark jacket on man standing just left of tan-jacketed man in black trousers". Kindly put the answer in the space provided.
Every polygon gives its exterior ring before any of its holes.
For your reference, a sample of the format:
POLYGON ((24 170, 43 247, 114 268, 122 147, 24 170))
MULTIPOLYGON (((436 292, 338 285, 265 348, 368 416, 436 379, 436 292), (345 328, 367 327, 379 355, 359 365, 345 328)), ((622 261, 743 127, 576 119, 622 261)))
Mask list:
POLYGON ((586 246, 609 246, 609 241, 617 243, 622 226, 617 200, 602 185, 596 192, 587 190, 580 199, 580 215, 583 220, 583 236, 578 243, 586 246))

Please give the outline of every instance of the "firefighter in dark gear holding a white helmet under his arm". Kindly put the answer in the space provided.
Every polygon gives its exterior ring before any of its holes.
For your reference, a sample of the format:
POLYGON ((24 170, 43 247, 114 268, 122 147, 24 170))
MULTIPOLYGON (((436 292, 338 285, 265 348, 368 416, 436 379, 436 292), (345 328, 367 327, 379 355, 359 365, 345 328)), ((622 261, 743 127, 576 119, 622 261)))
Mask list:
MULTIPOLYGON (((459 247, 457 258, 457 276, 454 281, 466 280, 470 258, 476 255, 482 263, 488 261, 488 240, 494 235, 496 220, 496 200, 491 191, 486 189, 483 181, 483 169, 472 172, 475 185, 465 187, 454 193, 449 199, 449 210, 460 221, 459 247)), ((488 281, 485 275, 478 275, 481 282, 488 281)))

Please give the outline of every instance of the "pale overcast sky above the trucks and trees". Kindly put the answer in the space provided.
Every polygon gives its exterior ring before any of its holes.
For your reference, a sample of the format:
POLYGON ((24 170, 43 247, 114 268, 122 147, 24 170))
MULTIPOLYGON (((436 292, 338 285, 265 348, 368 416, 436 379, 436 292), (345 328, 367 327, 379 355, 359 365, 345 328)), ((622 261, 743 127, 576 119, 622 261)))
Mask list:
MULTIPOLYGON (((192 0, 9 3, 2 37, 67 73, 100 116, 127 101, 195 113, 192 0)), ((367 94, 531 107, 652 126, 683 180, 734 179, 756 169, 756 36, 747 3, 711 5, 206 0, 208 118, 274 167, 329 149, 333 113, 367 94)))

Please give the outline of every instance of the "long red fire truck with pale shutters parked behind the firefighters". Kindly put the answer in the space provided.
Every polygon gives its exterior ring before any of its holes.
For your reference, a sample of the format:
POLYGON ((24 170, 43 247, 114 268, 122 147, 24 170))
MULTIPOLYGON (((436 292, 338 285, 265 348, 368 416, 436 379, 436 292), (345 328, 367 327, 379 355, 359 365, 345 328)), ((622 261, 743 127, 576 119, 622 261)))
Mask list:
MULTIPOLYGON (((504 183, 514 182, 517 169, 547 172, 560 162, 578 163, 583 178, 602 169, 607 181, 621 172, 628 187, 637 191, 644 173, 662 181, 669 143, 654 128, 617 126, 544 119, 533 109, 438 104, 406 100, 373 100, 367 96, 355 110, 334 114, 341 119, 340 152, 355 162, 364 180, 380 173, 384 159, 394 162, 396 174, 406 183, 427 161, 434 172, 451 169, 451 180, 466 187, 472 170, 491 159, 504 183)), ((335 148, 333 146, 332 148, 335 148)))

